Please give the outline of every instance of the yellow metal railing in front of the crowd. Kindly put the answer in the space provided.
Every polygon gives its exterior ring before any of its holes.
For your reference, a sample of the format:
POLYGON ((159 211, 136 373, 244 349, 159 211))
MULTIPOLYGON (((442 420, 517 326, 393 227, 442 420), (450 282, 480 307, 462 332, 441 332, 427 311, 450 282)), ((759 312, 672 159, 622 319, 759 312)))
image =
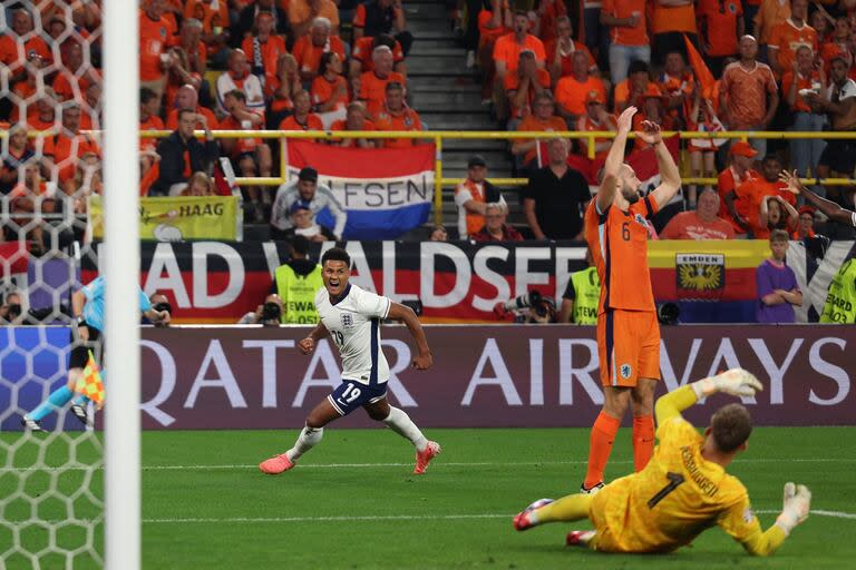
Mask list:
MULTIPOLYGON (((145 138, 160 138, 168 136, 171 131, 142 131, 140 137, 145 138)), ((203 136, 202 131, 196 132, 198 136, 203 136)), ((576 138, 585 139, 588 148, 588 158, 594 158, 595 139, 599 138, 613 138, 615 136, 612 131, 592 131, 592 132, 578 132, 578 131, 565 131, 565 132, 517 132, 517 131, 469 131, 469 130, 431 130, 431 131, 329 131, 329 130, 308 130, 308 131, 294 131, 294 130, 215 130, 213 131, 214 138, 263 138, 263 139, 317 139, 317 140, 332 140, 343 138, 368 138, 368 139, 386 139, 386 138, 407 138, 419 140, 432 140, 436 145, 435 157, 435 194, 434 194, 434 216, 435 222, 440 223, 442 218, 442 188, 455 186, 461 181, 460 178, 445 178, 442 176, 442 148, 444 140, 527 140, 527 139, 549 139, 549 138, 576 138)), ((683 131, 665 131, 664 137, 671 137, 678 135, 681 139, 739 139, 747 141, 749 139, 778 139, 778 140, 794 140, 794 139, 856 139, 856 132, 835 132, 835 131, 728 131, 728 132, 683 132, 683 131)), ((632 137, 632 135, 631 135, 632 137)), ((280 145, 280 176, 266 177, 266 178, 245 178, 239 177, 239 185, 247 186, 279 186, 286 179, 285 167, 288 165, 288 156, 285 154, 285 145, 280 145)), ((710 184, 716 185, 716 178, 682 178, 684 184, 710 184)), ((490 181, 498 186, 523 186, 527 183, 526 178, 490 178, 490 181)), ((804 180, 805 183, 815 183, 815 179, 804 180)), ((856 184, 856 180, 850 178, 825 178, 820 180, 821 184, 828 186, 848 186, 856 184)))

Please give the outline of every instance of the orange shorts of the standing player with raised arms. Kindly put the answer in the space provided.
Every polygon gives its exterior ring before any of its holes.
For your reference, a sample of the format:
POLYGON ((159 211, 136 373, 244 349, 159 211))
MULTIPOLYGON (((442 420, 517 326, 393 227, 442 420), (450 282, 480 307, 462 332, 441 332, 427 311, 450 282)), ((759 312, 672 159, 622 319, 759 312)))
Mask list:
POLYGON ((653 311, 607 309, 597 315, 601 384, 633 387, 660 380, 660 325, 653 311))

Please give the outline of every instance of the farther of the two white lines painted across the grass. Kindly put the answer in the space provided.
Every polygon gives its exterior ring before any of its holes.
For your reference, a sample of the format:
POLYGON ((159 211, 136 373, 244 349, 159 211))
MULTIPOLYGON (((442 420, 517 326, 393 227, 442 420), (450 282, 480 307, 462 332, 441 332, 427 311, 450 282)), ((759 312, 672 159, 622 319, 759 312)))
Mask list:
MULTIPOLYGON (((610 464, 632 464, 632 461, 610 461, 610 464)), ((735 463, 856 463, 856 458, 788 458, 788 459, 746 459, 735 463)), ((438 461, 434 469, 467 468, 467 466, 538 466, 538 465, 585 465, 587 461, 486 461, 486 462, 445 462, 438 461)), ((409 463, 307 463, 300 465, 304 469, 379 469, 411 466, 409 463)), ((212 465, 143 465, 143 471, 202 471, 202 470, 244 470, 257 469, 256 464, 212 464, 212 465)), ((29 471, 89 471, 89 465, 59 466, 59 468, 0 468, 0 473, 29 472, 29 471)), ((103 469, 99 465, 95 469, 103 469)))

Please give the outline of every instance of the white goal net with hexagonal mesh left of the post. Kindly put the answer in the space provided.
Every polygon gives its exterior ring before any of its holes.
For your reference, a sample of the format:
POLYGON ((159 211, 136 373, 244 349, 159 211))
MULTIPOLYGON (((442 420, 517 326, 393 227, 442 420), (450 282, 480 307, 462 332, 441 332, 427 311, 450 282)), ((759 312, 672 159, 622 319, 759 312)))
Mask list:
POLYGON ((81 256, 95 257, 87 198, 103 191, 99 6, 32 0, 0 10, 0 568, 105 561, 101 431, 70 413, 75 400, 51 407, 43 432, 21 425, 66 385, 81 343, 71 295, 81 256))

